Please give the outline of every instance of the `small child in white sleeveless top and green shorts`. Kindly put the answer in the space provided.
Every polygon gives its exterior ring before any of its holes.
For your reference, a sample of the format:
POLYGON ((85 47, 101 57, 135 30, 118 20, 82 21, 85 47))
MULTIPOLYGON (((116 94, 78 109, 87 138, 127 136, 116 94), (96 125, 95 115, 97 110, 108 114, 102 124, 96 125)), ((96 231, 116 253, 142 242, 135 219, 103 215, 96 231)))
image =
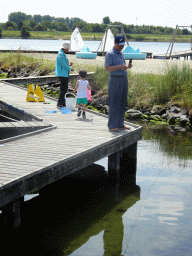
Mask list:
POLYGON ((83 118, 86 118, 85 111, 86 111, 86 104, 88 103, 87 100, 87 88, 90 90, 89 82, 86 80, 87 71, 86 70, 80 70, 79 71, 79 77, 80 80, 77 81, 76 86, 73 90, 73 93, 77 91, 77 116, 81 115, 81 104, 83 107, 83 118))

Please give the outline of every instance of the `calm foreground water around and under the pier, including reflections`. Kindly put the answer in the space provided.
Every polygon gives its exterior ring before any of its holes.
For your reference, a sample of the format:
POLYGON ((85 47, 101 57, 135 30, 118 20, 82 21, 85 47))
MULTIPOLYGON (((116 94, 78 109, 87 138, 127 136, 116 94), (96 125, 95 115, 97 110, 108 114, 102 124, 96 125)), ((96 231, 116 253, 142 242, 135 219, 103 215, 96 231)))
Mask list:
POLYGON ((65 178, 27 201, 14 252, 192 255, 192 136, 146 127, 137 156, 137 187, 118 202, 105 186, 107 158, 100 170, 92 166, 88 176, 65 178))

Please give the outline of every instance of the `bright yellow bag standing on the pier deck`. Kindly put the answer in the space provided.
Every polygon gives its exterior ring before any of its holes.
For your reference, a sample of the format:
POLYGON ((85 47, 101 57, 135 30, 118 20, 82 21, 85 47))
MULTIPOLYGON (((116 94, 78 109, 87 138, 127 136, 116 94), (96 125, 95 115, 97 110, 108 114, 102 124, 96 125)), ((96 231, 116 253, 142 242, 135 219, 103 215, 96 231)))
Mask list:
POLYGON ((38 85, 29 85, 26 101, 45 101, 41 88, 38 85))

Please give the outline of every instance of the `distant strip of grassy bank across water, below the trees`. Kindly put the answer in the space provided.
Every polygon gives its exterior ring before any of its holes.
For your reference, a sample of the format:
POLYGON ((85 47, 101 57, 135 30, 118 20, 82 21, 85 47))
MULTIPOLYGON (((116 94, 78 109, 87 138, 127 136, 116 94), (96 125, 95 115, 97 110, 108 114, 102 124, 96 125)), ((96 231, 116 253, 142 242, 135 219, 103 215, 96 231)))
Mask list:
MULTIPOLYGON (((59 32, 60 37, 63 40, 70 40, 71 32, 59 32)), ((101 41, 103 33, 81 33, 83 40, 101 41)), ((20 31, 2 31, 3 38, 21 38, 20 31)), ((172 35, 154 35, 154 34, 128 34, 128 41, 143 41, 143 42, 170 42, 172 35)), ((58 40, 57 33, 55 31, 30 31, 30 39, 55 39, 58 40)), ((190 35, 177 35, 175 42, 191 42, 190 35)))

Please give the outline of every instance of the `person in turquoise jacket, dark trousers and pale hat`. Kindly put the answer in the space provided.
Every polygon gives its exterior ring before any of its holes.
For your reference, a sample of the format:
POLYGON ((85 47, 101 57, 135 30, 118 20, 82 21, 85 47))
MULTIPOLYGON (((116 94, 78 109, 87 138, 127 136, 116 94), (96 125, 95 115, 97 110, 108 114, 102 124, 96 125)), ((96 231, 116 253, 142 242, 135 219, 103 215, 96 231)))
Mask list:
POLYGON ((65 102, 65 94, 68 90, 68 82, 69 82, 69 71, 73 71, 71 66, 72 62, 68 62, 66 57, 66 53, 68 53, 70 48, 69 43, 63 43, 61 49, 57 54, 56 66, 55 66, 55 75, 59 77, 60 85, 60 94, 57 102, 58 107, 63 107, 66 105, 65 102))

